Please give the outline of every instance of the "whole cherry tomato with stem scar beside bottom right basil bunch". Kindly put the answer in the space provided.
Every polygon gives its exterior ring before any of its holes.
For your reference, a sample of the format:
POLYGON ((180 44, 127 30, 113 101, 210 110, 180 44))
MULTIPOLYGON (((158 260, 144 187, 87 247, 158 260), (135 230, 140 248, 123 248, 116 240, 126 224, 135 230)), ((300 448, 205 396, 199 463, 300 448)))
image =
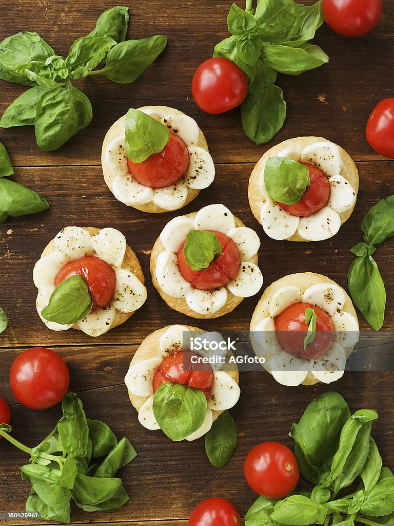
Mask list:
POLYGON ((263 442, 249 451, 244 473, 252 490, 270 499, 286 497, 299 479, 293 451, 280 442, 263 442))

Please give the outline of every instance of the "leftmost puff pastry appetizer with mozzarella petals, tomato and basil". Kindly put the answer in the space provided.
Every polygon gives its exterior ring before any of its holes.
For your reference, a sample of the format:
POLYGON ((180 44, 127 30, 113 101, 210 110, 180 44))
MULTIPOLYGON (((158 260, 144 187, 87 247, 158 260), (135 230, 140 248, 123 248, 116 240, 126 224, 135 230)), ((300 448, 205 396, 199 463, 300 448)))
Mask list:
POLYGON ((137 256, 115 228, 63 228, 36 262, 33 280, 37 312, 55 331, 100 336, 147 299, 137 256))

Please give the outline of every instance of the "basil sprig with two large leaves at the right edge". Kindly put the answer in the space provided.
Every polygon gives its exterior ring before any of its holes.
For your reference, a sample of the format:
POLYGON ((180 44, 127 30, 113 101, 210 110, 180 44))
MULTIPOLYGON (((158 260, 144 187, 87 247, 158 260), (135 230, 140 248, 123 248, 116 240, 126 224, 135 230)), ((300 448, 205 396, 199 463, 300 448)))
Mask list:
POLYGON ((394 195, 379 201, 361 221, 365 242, 350 249, 356 255, 348 271, 348 286, 364 318, 379 330, 385 320, 386 289, 372 254, 376 245, 394 236, 394 195))

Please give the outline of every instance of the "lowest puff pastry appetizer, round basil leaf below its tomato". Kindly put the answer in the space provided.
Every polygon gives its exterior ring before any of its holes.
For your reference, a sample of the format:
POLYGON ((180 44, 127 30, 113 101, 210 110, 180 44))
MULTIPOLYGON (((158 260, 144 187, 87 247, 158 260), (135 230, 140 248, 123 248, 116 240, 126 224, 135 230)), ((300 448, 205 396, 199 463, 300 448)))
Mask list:
MULTIPOLYGON (((184 360, 194 357, 212 356, 212 351, 199 351, 199 354, 190 351, 191 331, 198 331, 201 337, 208 340, 222 341, 217 332, 203 332, 201 329, 190 326, 171 325, 152 332, 143 340, 131 360, 125 383, 129 392, 130 401, 138 411, 138 420, 146 429, 161 429, 158 420, 166 420, 166 403, 170 399, 160 397, 160 388, 164 383, 181 384, 179 392, 172 398, 179 396, 188 397, 187 386, 194 388, 191 403, 179 404, 188 406, 186 414, 177 414, 179 428, 163 426, 163 431, 173 440, 195 440, 202 437, 212 427, 212 423, 226 409, 231 409, 240 397, 239 372, 236 365, 234 370, 223 370, 224 365, 191 365, 190 369, 184 367, 184 360), (189 353, 189 355, 187 354, 189 353), (185 358, 186 355, 188 358, 185 358), (203 392, 203 395, 199 391, 203 392), (201 407, 204 412, 201 413, 201 407), (196 413, 200 412, 200 421, 196 413), (171 429, 171 432, 170 432, 171 429), (189 433, 189 431, 193 430, 189 433)), ((227 351, 224 351, 224 356, 227 351)), ((167 389, 171 385, 165 386, 167 389)), ((163 388, 162 388, 163 389, 163 388)), ((176 389, 176 387, 175 387, 176 389)), ((173 400, 172 400, 173 401, 173 400)), ((188 397, 188 401, 190 401, 188 397)), ((177 411, 173 407, 173 411, 177 411)), ((171 424, 171 422, 170 422, 171 424)))

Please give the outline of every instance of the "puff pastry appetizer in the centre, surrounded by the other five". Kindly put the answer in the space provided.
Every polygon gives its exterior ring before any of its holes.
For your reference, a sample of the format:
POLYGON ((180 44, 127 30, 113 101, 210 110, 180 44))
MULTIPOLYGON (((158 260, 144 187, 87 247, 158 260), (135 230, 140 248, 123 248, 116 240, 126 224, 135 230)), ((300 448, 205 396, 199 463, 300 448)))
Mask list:
POLYGON ((172 219, 155 242, 153 285, 169 307, 192 318, 231 312, 263 284, 260 239, 223 205, 172 219))

